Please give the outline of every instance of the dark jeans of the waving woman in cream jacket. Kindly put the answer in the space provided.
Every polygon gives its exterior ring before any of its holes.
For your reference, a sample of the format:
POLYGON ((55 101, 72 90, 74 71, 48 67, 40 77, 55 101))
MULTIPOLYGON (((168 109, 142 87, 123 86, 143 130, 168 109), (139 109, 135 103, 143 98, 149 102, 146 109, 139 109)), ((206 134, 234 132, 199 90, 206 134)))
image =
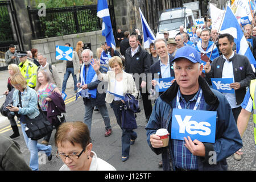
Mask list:
MULTIPOLYGON (((114 104, 113 102, 112 104, 110 104, 110 106, 114 111, 115 118, 117 119, 117 123, 119 127, 121 127, 121 121, 122 121, 122 110, 120 110, 121 105, 122 103, 117 105, 117 104, 114 104)), ((137 133, 135 131, 130 129, 122 129, 122 156, 129 157, 131 140, 135 140, 136 138, 137 138, 137 133)))

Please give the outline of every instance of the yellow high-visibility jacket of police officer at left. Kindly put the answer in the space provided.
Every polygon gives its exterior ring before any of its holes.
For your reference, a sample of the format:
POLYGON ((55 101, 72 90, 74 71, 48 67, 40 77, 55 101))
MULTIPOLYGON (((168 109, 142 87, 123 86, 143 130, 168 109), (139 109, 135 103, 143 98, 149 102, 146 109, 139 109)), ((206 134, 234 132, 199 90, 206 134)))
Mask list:
POLYGON ((36 86, 36 75, 38 66, 29 60, 26 60, 24 64, 19 63, 19 70, 27 81, 27 85, 31 88, 36 86))

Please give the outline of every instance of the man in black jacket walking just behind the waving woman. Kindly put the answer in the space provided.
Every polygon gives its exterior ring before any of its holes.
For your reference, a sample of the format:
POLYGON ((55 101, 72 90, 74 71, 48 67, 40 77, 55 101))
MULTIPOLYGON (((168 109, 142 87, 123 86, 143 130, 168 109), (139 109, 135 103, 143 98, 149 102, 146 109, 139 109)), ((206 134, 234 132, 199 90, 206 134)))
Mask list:
POLYGON ((136 35, 130 36, 129 44, 130 47, 125 52, 125 72, 137 73, 137 76, 139 76, 139 80, 136 75, 134 75, 134 78, 137 89, 139 88, 138 90, 141 92, 144 113, 148 121, 152 111, 151 100, 148 100, 149 94, 146 86, 147 73, 150 73, 150 55, 139 46, 138 37, 136 35))

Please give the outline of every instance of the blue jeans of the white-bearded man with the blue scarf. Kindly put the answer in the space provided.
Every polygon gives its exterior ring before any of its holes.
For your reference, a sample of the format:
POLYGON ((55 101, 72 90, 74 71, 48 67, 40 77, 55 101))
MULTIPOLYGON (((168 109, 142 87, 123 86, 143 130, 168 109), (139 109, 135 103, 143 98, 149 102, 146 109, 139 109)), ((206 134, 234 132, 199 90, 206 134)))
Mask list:
MULTIPOLYGON (((92 106, 90 99, 83 98, 83 100, 85 105, 84 123, 88 126, 88 129, 90 131, 92 126, 92 114, 93 114, 94 106, 92 106)), ((106 104, 97 105, 97 108, 98 110, 100 110, 101 116, 104 120, 105 129, 111 129, 109 113, 108 113, 108 108, 106 107, 106 104)))

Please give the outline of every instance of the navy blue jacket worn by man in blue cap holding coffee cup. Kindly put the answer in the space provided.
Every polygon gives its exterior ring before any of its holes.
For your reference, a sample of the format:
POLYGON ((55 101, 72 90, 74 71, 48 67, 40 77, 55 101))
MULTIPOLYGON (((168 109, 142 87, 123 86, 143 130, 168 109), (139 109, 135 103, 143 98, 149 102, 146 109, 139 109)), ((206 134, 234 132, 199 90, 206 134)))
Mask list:
MULTIPOLYGON (((242 139, 234 121, 232 109, 226 98, 217 90, 210 89, 202 77, 199 77, 199 85, 203 90, 206 104, 205 110, 217 111, 217 118, 215 143, 204 143, 205 157, 197 156, 198 168, 204 171, 227 170, 228 164, 226 158, 242 148, 242 139), (212 157, 212 155, 209 155, 210 151, 216 152, 216 164, 209 164, 209 160, 212 157)), ((175 170, 174 154, 171 144, 168 147, 154 148, 151 146, 150 135, 155 134, 156 130, 160 128, 167 129, 171 135, 172 108, 176 104, 178 89, 179 85, 175 81, 166 92, 158 97, 155 101, 151 117, 146 125, 148 145, 157 155, 162 154, 163 170, 171 170, 169 159, 171 159, 172 167, 175 170)))

